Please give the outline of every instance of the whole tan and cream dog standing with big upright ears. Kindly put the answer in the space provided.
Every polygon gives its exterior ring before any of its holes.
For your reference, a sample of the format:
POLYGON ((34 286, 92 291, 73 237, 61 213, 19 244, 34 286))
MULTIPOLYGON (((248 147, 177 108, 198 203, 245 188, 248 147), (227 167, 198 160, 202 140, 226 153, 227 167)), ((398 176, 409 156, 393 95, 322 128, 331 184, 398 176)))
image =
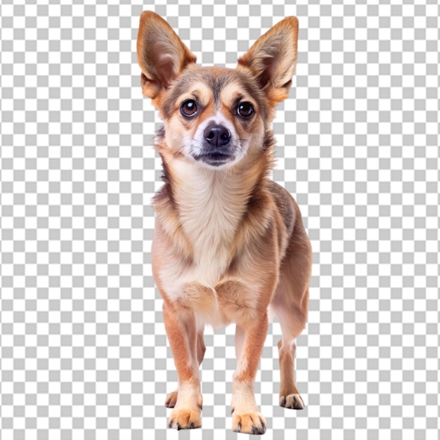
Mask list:
POLYGON ((164 126, 155 148, 164 185, 153 198, 152 268, 178 375, 169 427, 201 427, 199 365, 205 325, 235 323, 235 432, 264 434, 254 381, 269 316, 282 330, 280 406, 302 409, 295 348, 309 307, 311 245, 297 203, 268 178, 276 104, 297 63, 298 20, 261 36, 235 69, 201 67, 172 27, 141 14, 137 39, 144 96, 164 126))

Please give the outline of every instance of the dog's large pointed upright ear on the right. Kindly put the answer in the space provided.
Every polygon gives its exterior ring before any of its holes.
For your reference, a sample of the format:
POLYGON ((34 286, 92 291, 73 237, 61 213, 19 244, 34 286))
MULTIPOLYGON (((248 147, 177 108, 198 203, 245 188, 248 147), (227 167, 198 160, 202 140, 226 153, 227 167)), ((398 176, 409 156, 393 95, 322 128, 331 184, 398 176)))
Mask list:
POLYGON ((238 65, 251 70, 273 103, 283 101, 289 94, 297 65, 297 45, 298 19, 287 17, 238 58, 238 65))

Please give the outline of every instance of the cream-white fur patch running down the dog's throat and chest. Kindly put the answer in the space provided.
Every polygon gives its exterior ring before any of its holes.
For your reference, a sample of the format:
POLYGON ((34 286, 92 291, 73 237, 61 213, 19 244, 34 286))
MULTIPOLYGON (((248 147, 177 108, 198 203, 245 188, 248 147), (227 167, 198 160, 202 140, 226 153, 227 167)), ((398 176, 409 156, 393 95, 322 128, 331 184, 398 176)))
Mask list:
POLYGON ((183 294, 183 286, 188 283, 209 287, 215 295, 214 287, 231 263, 233 240, 248 196, 243 188, 237 188, 228 170, 195 167, 182 161, 174 164, 174 172, 174 196, 192 248, 193 264, 183 271, 169 266, 162 280, 174 299, 183 294))

